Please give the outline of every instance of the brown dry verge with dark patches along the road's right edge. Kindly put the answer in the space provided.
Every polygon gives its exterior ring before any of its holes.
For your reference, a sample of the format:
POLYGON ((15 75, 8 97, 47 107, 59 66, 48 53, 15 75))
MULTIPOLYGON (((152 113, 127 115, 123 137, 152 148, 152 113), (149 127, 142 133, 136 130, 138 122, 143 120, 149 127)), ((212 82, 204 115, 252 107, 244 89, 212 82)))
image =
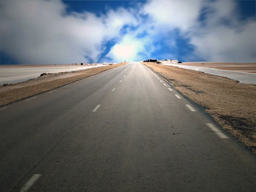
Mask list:
POLYGON ((256 85, 179 67, 143 64, 203 106, 219 125, 256 153, 256 85))

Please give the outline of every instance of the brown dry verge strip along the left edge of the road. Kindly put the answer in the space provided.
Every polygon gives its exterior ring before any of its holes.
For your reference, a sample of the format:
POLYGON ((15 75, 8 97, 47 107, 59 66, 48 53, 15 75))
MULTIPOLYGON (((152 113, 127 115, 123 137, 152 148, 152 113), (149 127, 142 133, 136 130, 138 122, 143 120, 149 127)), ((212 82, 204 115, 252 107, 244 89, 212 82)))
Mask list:
POLYGON ((72 73, 45 73, 37 79, 30 79, 21 83, 0 86, 0 106, 55 89, 65 84, 96 75, 124 64, 126 63, 90 68, 72 73))

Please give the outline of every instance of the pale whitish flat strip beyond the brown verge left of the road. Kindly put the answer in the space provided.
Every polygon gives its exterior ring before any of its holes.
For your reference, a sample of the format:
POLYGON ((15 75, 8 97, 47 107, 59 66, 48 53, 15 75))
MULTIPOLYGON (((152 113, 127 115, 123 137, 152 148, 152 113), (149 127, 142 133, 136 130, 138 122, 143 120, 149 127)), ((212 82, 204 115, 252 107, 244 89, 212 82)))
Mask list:
POLYGON ((42 73, 61 73, 85 70, 93 67, 103 67, 105 65, 97 64, 92 66, 50 66, 50 67, 6 67, 0 66, 0 84, 13 84, 29 79, 38 78, 42 73), (20 75, 22 74, 22 75, 20 75))

